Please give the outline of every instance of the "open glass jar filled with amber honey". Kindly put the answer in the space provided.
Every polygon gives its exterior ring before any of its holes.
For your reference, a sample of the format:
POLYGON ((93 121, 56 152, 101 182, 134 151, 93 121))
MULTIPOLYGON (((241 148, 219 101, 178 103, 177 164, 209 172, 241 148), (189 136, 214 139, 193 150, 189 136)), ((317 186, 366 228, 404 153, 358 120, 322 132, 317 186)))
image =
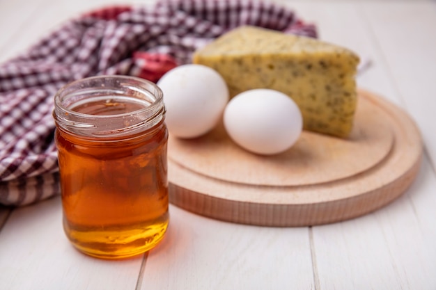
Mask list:
POLYGON ((150 250, 169 223, 162 91, 131 76, 95 76, 54 100, 66 236, 104 259, 150 250))

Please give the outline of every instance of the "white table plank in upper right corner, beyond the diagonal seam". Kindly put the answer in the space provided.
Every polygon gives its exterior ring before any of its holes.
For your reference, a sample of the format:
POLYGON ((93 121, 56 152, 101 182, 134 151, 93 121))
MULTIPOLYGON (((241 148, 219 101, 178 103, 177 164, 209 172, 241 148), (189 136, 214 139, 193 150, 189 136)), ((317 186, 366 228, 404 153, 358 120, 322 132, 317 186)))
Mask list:
POLYGON ((421 128, 435 168, 436 1, 366 3, 363 8, 403 104, 421 128))

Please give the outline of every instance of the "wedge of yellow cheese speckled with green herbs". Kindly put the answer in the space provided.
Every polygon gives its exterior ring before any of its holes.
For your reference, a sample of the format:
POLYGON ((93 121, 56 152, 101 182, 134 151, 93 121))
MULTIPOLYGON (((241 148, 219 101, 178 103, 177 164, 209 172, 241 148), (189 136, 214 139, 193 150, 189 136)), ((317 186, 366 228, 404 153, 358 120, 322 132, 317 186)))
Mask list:
POLYGON ((284 92, 302 111, 304 129, 340 137, 352 129, 359 57, 348 49, 242 26, 198 49, 193 63, 217 70, 231 97, 254 88, 284 92))

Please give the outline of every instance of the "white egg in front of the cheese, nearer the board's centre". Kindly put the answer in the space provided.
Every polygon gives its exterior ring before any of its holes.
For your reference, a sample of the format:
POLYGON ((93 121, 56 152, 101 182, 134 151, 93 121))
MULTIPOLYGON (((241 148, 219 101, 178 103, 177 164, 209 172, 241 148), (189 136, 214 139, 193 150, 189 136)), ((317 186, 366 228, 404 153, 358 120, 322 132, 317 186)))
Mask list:
POLYGON ((256 154, 288 150, 299 138, 302 125, 297 104, 277 90, 247 90, 233 97, 224 110, 228 136, 256 154))

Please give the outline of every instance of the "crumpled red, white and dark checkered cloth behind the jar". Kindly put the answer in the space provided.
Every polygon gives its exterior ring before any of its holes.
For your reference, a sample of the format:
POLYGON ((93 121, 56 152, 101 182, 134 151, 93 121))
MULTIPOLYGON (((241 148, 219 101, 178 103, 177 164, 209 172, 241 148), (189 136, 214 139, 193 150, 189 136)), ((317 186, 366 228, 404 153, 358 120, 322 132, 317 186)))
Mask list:
POLYGON ((0 65, 0 203, 31 204, 60 192, 52 111, 61 86, 99 74, 157 81, 245 24, 316 37, 315 26, 276 3, 164 0, 86 13, 0 65))

